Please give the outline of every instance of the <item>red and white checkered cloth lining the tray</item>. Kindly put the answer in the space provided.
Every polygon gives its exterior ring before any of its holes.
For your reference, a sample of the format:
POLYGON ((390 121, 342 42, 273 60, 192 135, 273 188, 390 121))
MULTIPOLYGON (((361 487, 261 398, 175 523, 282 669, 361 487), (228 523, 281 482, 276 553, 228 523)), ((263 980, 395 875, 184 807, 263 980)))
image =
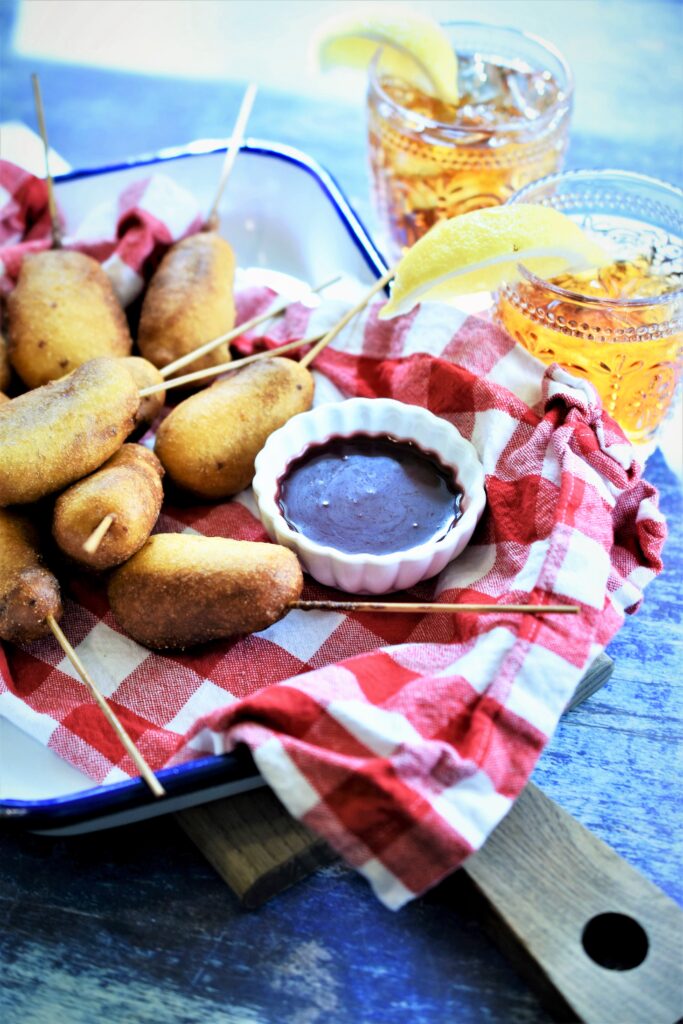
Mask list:
MULTIPOLYGON (((272 293, 239 298, 244 319, 272 293)), ((590 385, 451 307, 388 323, 379 307, 318 358, 319 396, 390 396, 444 417, 477 449, 488 498, 465 553, 401 597, 566 601, 581 613, 294 610, 259 634, 168 655, 124 636, 103 585, 75 575, 62 580, 62 627, 153 767, 249 744, 290 811, 396 908, 508 811, 579 679, 660 569, 666 527, 590 385)), ((265 342, 316 333, 338 311, 296 306, 265 342)), ((250 492, 167 501, 157 529, 265 540, 250 492)), ((308 581, 304 596, 335 592, 308 581)), ((0 677, 0 714, 97 782, 134 774, 51 639, 7 645, 0 677)))

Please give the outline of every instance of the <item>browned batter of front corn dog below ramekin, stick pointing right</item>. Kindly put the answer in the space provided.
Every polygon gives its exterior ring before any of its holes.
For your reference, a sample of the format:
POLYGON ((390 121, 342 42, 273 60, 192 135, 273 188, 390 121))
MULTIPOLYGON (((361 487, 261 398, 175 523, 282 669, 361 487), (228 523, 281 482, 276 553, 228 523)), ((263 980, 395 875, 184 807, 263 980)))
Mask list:
POLYGON ((109 597, 138 643, 183 648, 265 629, 302 587, 296 556, 276 544, 157 534, 115 570, 109 597))

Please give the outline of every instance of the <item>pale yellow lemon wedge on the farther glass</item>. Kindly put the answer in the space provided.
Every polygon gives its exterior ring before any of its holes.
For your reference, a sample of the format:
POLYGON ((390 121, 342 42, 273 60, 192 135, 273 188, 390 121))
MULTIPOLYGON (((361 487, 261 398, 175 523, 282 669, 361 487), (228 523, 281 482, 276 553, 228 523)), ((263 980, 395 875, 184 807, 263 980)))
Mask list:
POLYGON ((386 48, 384 70, 443 102, 458 102, 458 59, 441 27, 425 14, 390 14, 386 8, 364 7, 361 13, 326 22, 313 48, 323 71, 368 68, 378 49, 386 48))

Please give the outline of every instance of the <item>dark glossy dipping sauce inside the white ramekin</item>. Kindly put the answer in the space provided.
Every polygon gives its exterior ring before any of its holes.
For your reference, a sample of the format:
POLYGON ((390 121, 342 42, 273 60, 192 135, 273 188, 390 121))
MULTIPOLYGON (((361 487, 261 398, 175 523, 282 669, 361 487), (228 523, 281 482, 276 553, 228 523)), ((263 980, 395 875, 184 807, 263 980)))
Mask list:
POLYGON ((462 497, 433 454, 368 434, 311 444, 278 488, 292 529, 349 554, 386 555, 440 539, 460 519, 462 497))

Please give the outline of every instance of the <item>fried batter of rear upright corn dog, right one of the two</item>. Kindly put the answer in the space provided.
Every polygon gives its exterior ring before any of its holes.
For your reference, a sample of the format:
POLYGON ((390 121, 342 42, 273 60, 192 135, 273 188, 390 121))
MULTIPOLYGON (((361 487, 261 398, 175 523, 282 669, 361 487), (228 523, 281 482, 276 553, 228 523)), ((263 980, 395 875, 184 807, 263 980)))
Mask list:
MULTIPOLYGON (((137 345, 156 367, 166 367, 234 326, 234 255, 213 231, 200 231, 166 253, 142 302, 137 345)), ((226 344, 181 373, 226 362, 226 344)))

